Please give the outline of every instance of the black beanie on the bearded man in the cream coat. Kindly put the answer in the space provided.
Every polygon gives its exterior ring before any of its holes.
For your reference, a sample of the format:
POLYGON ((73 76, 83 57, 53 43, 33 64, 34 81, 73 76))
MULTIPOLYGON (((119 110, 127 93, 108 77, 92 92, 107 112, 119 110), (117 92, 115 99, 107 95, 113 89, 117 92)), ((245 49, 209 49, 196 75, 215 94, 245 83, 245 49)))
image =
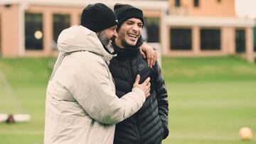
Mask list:
POLYGON ((89 4, 82 10, 80 25, 96 33, 117 25, 117 22, 117 16, 112 9, 105 4, 96 3, 89 4))

